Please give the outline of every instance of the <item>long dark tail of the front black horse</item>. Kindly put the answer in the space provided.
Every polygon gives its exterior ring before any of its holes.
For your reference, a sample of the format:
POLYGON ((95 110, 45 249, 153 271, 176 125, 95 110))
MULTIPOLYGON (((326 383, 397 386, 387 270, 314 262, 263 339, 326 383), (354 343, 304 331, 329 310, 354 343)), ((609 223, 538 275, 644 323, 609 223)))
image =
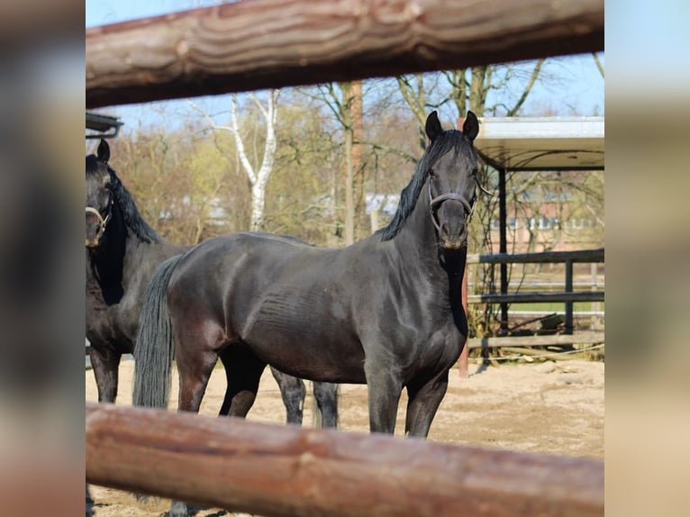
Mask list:
POLYGON ((167 290, 181 257, 177 255, 163 262, 146 288, 133 354, 133 405, 168 407, 174 346, 167 290))

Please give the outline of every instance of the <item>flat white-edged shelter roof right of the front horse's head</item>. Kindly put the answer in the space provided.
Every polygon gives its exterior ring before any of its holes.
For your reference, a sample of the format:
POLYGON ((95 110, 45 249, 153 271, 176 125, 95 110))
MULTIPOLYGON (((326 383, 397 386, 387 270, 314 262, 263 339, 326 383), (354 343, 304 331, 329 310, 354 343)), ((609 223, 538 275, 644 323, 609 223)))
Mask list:
POLYGON ((494 168, 603 170, 604 117, 484 117, 475 147, 494 168))

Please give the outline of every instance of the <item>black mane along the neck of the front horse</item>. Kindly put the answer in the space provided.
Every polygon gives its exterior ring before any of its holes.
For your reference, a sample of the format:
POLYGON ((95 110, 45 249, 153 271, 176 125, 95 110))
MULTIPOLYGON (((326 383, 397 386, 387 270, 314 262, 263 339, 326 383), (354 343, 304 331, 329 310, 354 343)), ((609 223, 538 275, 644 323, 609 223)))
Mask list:
POLYGON ((424 186, 426 178, 429 176, 431 166, 449 150, 455 149, 457 153, 459 144, 464 139, 465 135, 462 132, 448 130, 442 132, 434 141, 431 141, 431 145, 424 151, 422 158, 414 169, 412 180, 404 187, 403 192, 400 194, 400 203, 397 210, 395 210, 393 219, 386 228, 380 230, 381 240, 391 240, 403 229, 404 222, 413 213, 414 206, 417 204, 417 199, 422 192, 422 186, 424 186))

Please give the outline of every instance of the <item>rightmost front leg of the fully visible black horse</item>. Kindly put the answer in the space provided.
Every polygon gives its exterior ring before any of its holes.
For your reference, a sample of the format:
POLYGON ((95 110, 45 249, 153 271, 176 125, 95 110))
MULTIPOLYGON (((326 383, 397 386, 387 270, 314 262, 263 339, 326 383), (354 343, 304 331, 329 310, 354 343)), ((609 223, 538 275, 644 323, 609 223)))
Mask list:
POLYGON ((407 416, 405 434, 426 438, 431 421, 448 389, 448 370, 426 383, 407 386, 407 416))

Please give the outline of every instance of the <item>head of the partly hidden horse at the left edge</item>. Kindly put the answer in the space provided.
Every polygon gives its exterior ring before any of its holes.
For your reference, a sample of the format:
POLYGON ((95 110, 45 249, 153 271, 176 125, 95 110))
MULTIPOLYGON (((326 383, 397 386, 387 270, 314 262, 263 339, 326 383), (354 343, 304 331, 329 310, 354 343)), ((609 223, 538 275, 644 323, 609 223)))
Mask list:
POLYGON ((108 170, 110 148, 98 145, 97 156, 86 157, 86 247, 95 248, 113 217, 113 178, 108 170))

